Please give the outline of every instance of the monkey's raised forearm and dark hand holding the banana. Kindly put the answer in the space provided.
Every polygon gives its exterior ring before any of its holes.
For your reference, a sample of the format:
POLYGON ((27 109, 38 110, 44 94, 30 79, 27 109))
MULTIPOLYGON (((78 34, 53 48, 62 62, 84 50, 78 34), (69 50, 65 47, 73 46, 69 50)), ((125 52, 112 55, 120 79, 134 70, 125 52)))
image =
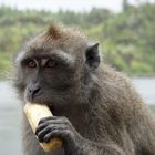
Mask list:
POLYGON ((94 143, 82 137, 66 117, 49 116, 42 118, 35 134, 40 142, 50 142, 53 137, 63 140, 66 155, 125 155, 114 143, 94 143))

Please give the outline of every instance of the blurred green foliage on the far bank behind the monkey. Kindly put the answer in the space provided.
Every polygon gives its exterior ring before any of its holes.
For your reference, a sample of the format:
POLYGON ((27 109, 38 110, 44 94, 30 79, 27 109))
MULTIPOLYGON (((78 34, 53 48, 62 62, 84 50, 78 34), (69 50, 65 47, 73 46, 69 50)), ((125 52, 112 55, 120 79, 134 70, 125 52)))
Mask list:
POLYGON ((100 42, 104 61, 127 74, 155 74, 155 3, 138 7, 123 3, 124 11, 113 13, 93 8, 90 12, 19 11, 0 8, 0 76, 11 68, 11 58, 31 37, 44 31, 53 20, 83 32, 100 42), (127 9, 125 9, 127 8, 127 9))

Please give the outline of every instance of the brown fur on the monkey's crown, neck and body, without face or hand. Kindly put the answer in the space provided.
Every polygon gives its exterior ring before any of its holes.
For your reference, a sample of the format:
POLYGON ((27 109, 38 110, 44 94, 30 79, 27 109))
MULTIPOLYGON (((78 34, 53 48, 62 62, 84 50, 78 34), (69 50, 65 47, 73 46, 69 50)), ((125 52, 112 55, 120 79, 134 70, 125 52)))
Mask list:
MULTIPOLYGON (((86 37, 54 24, 28 44, 27 52, 32 49, 37 52, 61 49, 76 55, 76 87, 71 91, 73 96, 69 100, 72 104, 55 112, 58 116, 66 116, 75 130, 89 140, 81 144, 75 155, 92 155, 94 151, 95 155, 155 155, 155 120, 131 81, 103 62, 91 76, 92 83, 85 81, 81 69, 85 63, 84 49, 90 44, 86 37)), ((18 78, 17 87, 22 94, 21 83, 18 78)), ((64 155, 63 149, 44 153, 25 120, 23 141, 24 155, 64 155)))

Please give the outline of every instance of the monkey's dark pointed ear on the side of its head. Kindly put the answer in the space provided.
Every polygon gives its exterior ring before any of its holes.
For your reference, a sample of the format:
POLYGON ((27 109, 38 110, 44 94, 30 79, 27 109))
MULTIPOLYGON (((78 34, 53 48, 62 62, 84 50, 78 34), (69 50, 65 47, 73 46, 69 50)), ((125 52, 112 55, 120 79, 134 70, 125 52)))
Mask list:
POLYGON ((99 43, 95 43, 86 49, 86 64, 91 69, 96 69, 100 64, 99 43))

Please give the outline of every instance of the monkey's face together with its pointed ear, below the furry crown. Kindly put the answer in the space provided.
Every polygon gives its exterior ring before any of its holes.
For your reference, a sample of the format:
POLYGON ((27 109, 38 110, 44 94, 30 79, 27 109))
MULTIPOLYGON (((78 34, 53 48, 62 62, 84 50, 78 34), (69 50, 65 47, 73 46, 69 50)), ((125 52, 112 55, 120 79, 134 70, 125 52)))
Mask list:
POLYGON ((60 108, 76 104, 82 99, 80 92, 86 81, 85 72, 91 74, 91 69, 97 68, 100 58, 95 44, 85 49, 81 58, 62 50, 31 49, 21 52, 17 62, 17 85, 24 102, 60 108))

